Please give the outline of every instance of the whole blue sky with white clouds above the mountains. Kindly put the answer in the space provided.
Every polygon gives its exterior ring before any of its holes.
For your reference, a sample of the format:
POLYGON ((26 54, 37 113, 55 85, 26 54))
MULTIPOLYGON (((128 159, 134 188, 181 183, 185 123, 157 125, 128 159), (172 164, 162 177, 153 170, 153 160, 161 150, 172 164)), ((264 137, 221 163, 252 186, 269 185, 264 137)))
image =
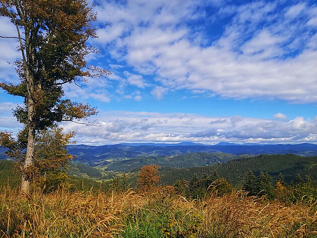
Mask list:
MULTIPOLYGON (((92 0, 90 2, 92 4, 92 0)), ((78 144, 317 143, 315 1, 97 1, 108 78, 64 86, 98 126, 60 123, 78 144)), ((0 35, 16 36, 0 18, 0 35)), ((17 83, 17 42, 0 38, 0 81, 17 83)), ((21 98, 0 91, 0 130, 17 132, 21 98)))

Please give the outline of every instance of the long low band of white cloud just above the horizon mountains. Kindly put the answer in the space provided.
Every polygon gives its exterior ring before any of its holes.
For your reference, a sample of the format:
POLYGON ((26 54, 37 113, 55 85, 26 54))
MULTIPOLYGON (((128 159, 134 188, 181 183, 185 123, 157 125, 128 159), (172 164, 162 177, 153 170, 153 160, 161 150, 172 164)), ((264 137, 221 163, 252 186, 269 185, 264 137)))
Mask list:
POLYGON ((97 144, 160 141, 195 141, 209 144, 219 141, 317 142, 317 117, 312 120, 295 117, 286 121, 246 117, 207 117, 183 113, 115 111, 104 112, 96 119, 99 127, 85 127, 74 123, 63 123, 62 127, 66 131, 77 131, 76 135, 79 139, 76 138, 76 141, 79 143, 88 143, 88 141, 97 144))

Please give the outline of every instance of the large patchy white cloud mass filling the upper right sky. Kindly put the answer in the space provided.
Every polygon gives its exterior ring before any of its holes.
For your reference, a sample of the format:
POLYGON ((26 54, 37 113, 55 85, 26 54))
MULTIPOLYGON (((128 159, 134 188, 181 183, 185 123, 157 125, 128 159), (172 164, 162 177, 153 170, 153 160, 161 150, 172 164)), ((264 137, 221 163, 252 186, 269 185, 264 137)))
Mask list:
MULTIPOLYGON (((116 32, 107 29, 111 55, 140 74, 154 74, 161 84, 154 87, 211 92, 224 98, 317 102, 317 50, 307 48, 314 35, 307 28, 314 25, 313 11, 304 3, 287 8, 278 1, 226 7, 221 3, 162 0, 144 5, 138 0, 117 5, 110 1, 98 12, 111 19, 110 29, 118 27, 116 32), (199 7, 215 4, 221 7, 219 12, 230 8, 231 17, 222 35, 210 41, 204 32, 193 31, 190 23, 212 17, 199 7), (144 6, 142 12, 139 6, 144 6), (194 40, 193 34, 202 41, 194 40)), ((97 43, 109 47, 107 42, 101 37, 97 43)), ((144 87, 140 76, 130 82, 144 87)), ((160 89, 152 91, 158 99, 163 95, 160 89)))

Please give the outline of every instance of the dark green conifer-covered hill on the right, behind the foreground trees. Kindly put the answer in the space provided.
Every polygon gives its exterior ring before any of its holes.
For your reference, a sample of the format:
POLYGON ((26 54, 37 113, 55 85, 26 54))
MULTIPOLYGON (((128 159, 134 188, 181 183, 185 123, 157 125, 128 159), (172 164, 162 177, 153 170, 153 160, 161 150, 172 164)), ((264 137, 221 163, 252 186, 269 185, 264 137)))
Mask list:
POLYGON ((302 157, 295 154, 257 155, 254 157, 232 160, 225 164, 195 168, 161 168, 162 184, 174 184, 177 180, 190 181, 194 174, 201 177, 204 173, 211 175, 216 171, 220 177, 227 179, 232 184, 241 183, 248 171, 258 175, 261 171, 268 172, 273 179, 282 173, 285 181, 290 183, 296 174, 310 176, 317 183, 317 156, 302 157))

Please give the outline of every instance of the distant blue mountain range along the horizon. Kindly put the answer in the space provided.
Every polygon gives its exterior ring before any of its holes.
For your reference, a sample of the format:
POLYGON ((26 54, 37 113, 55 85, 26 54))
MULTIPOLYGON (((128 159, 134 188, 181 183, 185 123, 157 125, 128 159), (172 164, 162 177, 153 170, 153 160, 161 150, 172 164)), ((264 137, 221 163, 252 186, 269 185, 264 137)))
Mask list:
POLYGON ((68 151, 76 154, 75 161, 89 163, 102 163, 109 158, 137 158, 142 156, 171 156, 183 153, 195 152, 224 152, 235 155, 241 154, 286 154, 293 153, 302 156, 317 155, 317 144, 277 144, 277 145, 258 145, 258 144, 229 144, 219 143, 217 145, 202 145, 195 143, 179 144, 114 144, 102 146, 90 145, 69 145, 68 151))

